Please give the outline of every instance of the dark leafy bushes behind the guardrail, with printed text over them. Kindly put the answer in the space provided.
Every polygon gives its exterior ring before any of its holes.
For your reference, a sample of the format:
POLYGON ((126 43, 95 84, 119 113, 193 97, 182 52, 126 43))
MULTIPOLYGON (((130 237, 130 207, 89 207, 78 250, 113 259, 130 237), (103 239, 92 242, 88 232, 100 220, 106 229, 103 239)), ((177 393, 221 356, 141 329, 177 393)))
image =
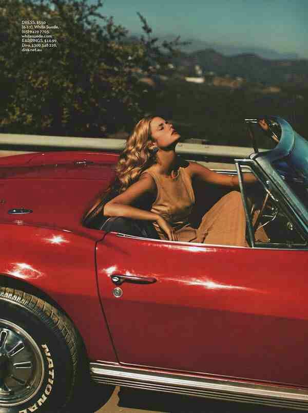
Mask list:
POLYGON ((145 36, 129 42, 128 31, 98 11, 102 6, 0 0, 1 132, 100 137, 131 129, 147 110, 148 88, 139 77, 164 67, 179 39, 158 46, 139 15, 145 36), (52 29, 57 48, 22 52, 23 20, 59 26, 52 29))

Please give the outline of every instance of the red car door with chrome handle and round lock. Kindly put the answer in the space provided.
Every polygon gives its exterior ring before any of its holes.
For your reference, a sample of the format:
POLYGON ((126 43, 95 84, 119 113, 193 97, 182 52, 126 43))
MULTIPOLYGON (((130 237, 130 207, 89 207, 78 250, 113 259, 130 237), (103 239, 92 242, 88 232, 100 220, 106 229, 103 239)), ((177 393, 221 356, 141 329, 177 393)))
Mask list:
POLYGON ((308 385, 307 264, 305 250, 108 233, 98 286, 119 362, 308 385))

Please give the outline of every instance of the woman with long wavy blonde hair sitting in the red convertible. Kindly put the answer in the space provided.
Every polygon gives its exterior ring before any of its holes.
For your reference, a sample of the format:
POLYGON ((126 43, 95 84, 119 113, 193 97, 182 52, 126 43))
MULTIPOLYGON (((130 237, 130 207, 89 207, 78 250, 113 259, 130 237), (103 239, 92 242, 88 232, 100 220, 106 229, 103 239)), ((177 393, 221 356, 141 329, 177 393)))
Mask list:
MULTIPOLYGON (((234 188, 238 178, 183 161, 175 152, 179 139, 163 118, 146 117, 138 122, 116 168, 119 195, 105 204, 104 215, 152 221, 161 239, 247 246, 245 213, 237 191, 222 197, 203 216, 199 228, 191 227, 192 181, 234 188), (149 210, 140 209, 146 200, 149 210)), ((256 178, 245 177, 245 181, 256 178)))

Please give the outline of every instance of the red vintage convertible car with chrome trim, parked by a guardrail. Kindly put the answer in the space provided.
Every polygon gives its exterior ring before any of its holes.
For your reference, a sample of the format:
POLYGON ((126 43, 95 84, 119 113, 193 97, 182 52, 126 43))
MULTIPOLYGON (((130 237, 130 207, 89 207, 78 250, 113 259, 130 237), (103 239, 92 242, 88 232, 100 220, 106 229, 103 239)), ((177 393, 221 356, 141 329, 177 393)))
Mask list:
MULTIPOLYGON (((254 137, 258 119, 246 123, 254 137)), ((102 384, 308 409, 308 143, 279 117, 268 126, 272 149, 254 142, 220 171, 239 176, 247 248, 104 217, 96 200, 117 154, 0 160, 1 412, 65 411, 89 371, 102 384)), ((222 192, 195 190, 198 222, 222 192)))

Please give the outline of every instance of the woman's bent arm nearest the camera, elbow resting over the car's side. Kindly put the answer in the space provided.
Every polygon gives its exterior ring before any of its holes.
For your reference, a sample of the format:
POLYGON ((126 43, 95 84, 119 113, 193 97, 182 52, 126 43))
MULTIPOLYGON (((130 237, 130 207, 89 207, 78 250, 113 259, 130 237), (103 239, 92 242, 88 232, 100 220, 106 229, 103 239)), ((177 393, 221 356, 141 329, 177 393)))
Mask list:
POLYGON ((149 174, 143 174, 140 179, 129 186, 126 191, 107 202, 104 206, 104 215, 155 221, 166 233, 168 239, 177 241, 174 230, 162 216, 131 206, 133 202, 146 194, 152 194, 153 197, 156 194, 156 183, 149 174))

